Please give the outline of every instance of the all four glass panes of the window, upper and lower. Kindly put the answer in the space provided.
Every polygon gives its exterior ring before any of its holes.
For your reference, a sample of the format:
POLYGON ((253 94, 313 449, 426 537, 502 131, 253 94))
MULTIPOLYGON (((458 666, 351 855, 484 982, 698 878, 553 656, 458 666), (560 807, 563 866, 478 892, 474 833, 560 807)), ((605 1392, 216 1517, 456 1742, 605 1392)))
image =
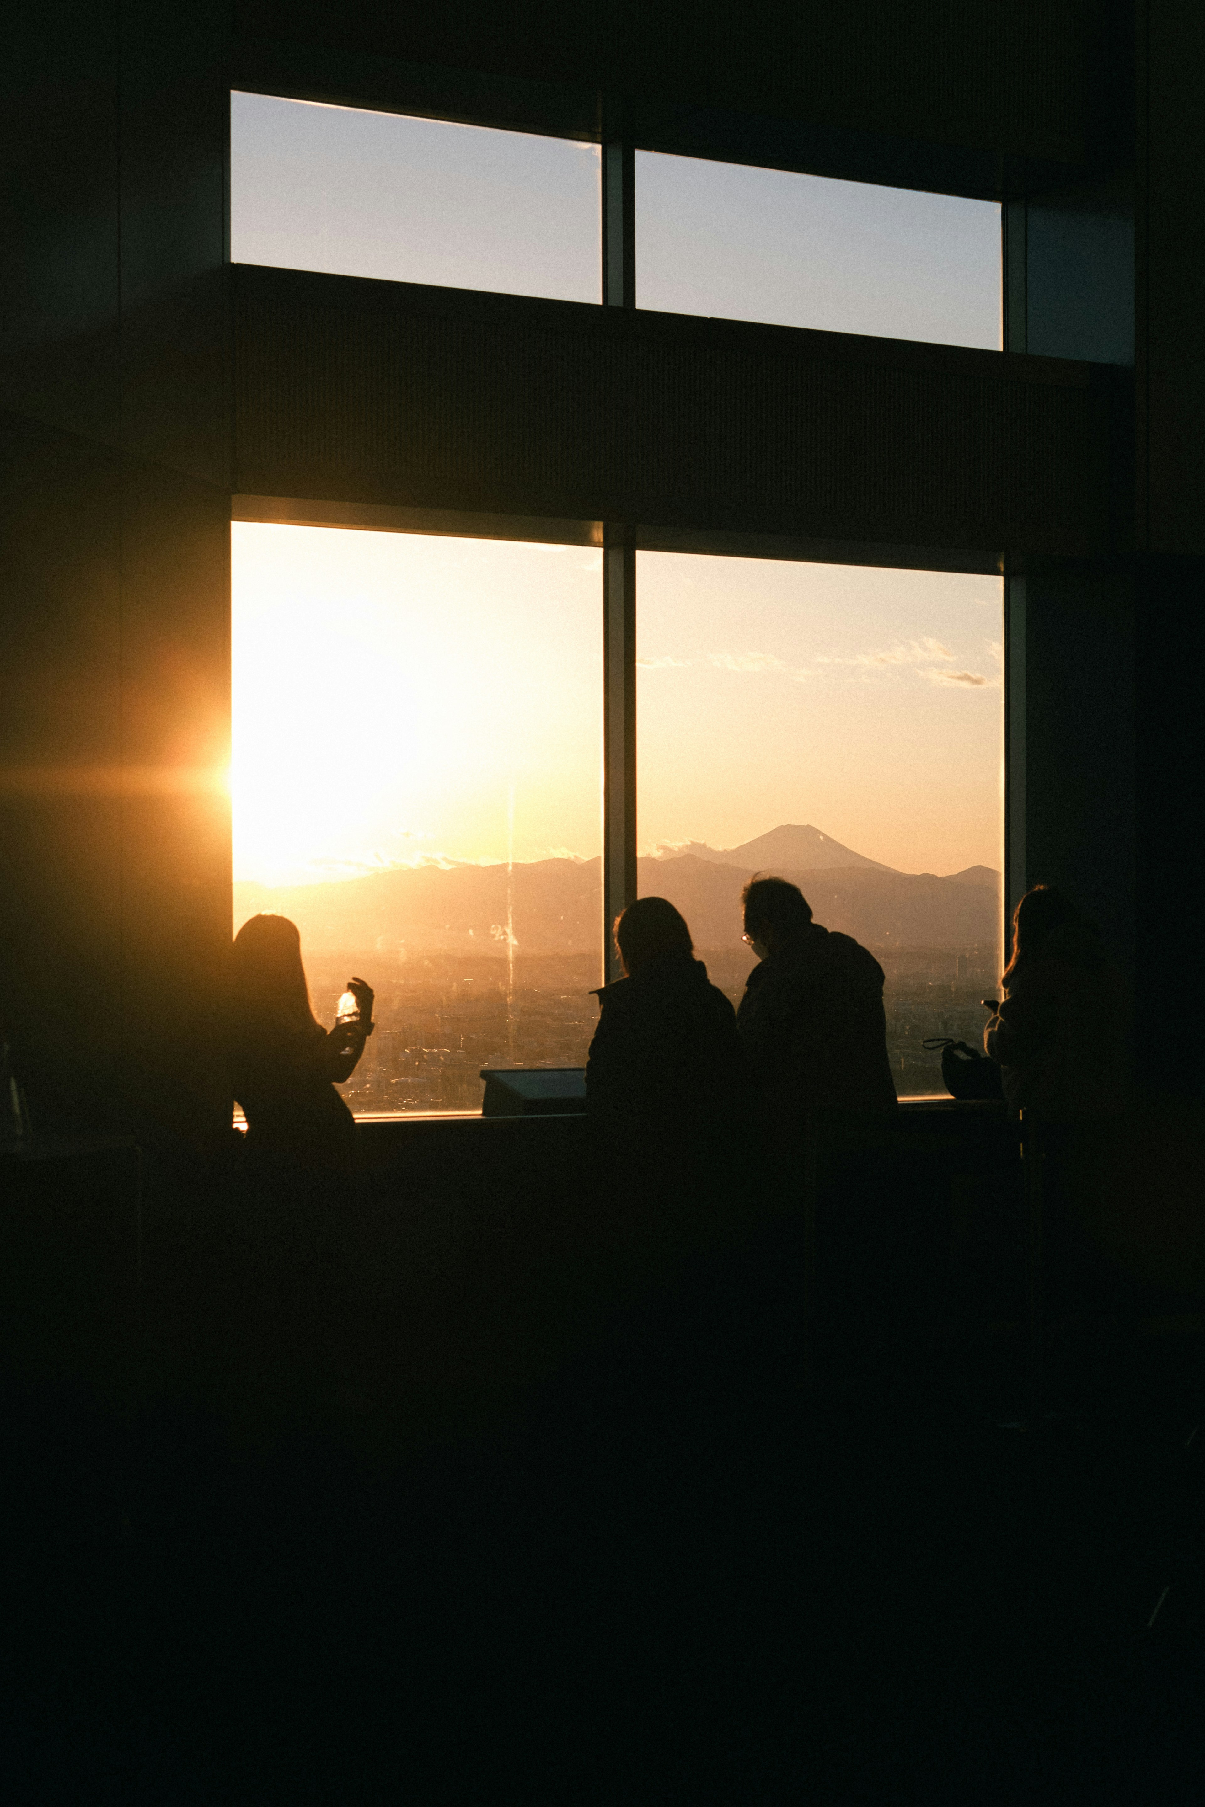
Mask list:
MULTIPOLYGON (((598 145, 233 94, 231 255, 596 302, 600 168, 598 145)), ((634 228, 638 307, 1001 342, 990 202, 638 152, 634 228)), ((350 972, 376 987, 349 1100, 475 1109, 482 1066, 582 1064, 602 553, 233 533, 235 925, 298 923, 327 1021, 350 972)), ((901 1095, 943 1091, 923 1039, 977 1043, 999 981, 1001 622, 997 578, 638 558, 638 889, 739 1001, 741 885, 797 878, 883 965, 901 1095)))

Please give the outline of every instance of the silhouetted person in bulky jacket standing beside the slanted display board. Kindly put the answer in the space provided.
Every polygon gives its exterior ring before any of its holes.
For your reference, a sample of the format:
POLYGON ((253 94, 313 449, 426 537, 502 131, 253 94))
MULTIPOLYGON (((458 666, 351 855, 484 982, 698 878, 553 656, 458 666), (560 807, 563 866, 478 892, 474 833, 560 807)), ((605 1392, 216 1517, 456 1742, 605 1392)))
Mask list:
POLYGON ((692 1142, 744 1104, 735 1012, 694 958, 665 898, 638 898, 614 929, 623 978, 603 985, 585 1063, 585 1109, 627 1142, 692 1142))

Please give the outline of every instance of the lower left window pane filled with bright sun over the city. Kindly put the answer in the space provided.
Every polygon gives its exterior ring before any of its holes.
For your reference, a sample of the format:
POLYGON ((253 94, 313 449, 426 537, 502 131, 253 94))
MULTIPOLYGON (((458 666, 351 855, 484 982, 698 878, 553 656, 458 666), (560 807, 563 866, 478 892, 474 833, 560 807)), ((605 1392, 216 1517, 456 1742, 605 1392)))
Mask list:
POLYGON ((358 1113, 580 1066, 602 958, 602 553, 233 528, 235 929, 291 916, 358 1113))

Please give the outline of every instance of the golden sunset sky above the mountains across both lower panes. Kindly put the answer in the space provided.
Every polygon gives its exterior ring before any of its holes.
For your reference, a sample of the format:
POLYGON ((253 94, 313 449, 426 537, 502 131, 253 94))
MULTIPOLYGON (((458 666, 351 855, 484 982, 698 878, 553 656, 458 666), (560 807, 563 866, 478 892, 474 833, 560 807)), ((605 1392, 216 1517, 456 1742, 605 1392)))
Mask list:
MULTIPOLYGON (((600 851, 602 557, 235 524, 235 876, 600 851)), ((1001 858, 1001 584, 641 553, 640 844, 1001 858)))

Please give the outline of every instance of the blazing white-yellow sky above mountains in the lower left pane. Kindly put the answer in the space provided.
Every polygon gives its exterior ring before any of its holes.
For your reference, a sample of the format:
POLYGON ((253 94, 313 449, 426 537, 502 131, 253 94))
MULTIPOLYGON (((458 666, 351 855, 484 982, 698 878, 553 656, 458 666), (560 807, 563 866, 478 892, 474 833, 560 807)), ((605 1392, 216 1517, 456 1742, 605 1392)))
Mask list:
POLYGON ((235 524, 235 876, 596 855, 600 557, 235 524))

